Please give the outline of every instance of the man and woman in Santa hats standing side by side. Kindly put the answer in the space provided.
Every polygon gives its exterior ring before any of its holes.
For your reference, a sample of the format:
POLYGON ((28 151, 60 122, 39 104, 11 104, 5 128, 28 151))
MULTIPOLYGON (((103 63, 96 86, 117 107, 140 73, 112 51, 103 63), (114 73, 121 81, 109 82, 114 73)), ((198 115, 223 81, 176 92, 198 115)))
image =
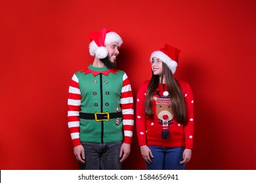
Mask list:
MULTIPOLYGON (((68 128, 81 169, 121 169, 133 136, 133 93, 126 73, 115 69, 123 43, 114 31, 89 34, 93 64, 74 73, 68 93, 68 128)), ((190 86, 173 77, 177 48, 152 53, 152 77, 137 94, 136 125, 147 169, 184 169, 193 148, 190 86)))

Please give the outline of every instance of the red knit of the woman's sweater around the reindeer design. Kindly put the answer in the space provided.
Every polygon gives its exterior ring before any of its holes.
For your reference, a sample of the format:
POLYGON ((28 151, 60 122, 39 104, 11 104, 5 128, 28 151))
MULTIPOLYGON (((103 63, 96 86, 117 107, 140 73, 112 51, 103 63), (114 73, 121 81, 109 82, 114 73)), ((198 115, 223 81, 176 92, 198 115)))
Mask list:
MULTIPOLYGON (((152 110, 154 112, 154 119, 148 118, 144 115, 144 103, 146 99, 146 90, 148 88, 149 80, 145 81, 139 88, 137 93, 137 108, 136 108, 136 125, 139 145, 162 146, 162 147, 185 147, 193 148, 194 139, 194 97, 192 90, 187 82, 179 81, 184 100, 186 103, 186 120, 183 124, 177 122, 173 118, 173 124, 169 125, 169 137, 163 139, 161 137, 162 124, 159 123, 156 115, 156 101, 152 100, 152 110)), ((166 85, 163 85, 165 90, 166 85)), ((159 84, 156 91, 163 95, 161 84, 159 84)), ((154 97, 159 95, 154 94, 154 97)))

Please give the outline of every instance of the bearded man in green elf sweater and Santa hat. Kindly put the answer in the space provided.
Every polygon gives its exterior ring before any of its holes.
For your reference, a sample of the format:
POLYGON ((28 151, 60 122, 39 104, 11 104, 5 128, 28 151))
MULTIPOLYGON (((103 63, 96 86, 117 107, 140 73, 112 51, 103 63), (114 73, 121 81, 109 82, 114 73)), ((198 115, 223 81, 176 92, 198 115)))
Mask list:
POLYGON ((121 169, 133 135, 133 94, 125 72, 114 69, 123 43, 114 31, 89 34, 93 64, 74 74, 68 127, 81 169, 121 169))

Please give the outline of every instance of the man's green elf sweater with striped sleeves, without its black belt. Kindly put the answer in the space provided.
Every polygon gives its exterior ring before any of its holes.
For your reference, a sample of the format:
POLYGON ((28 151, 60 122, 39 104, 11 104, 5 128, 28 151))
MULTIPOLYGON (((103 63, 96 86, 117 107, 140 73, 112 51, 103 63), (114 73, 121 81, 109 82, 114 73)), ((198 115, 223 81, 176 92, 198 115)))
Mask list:
POLYGON ((133 94, 125 72, 107 67, 89 67, 75 73, 68 93, 68 127, 74 146, 81 142, 131 143, 133 94), (80 112, 119 112, 121 118, 108 121, 79 118, 80 112))

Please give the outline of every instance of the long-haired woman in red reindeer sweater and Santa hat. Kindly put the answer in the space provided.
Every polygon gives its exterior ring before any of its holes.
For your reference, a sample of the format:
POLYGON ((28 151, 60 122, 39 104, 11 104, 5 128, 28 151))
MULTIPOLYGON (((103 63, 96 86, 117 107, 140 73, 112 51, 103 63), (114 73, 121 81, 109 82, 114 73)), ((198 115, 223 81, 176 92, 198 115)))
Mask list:
POLYGON ((184 169, 194 139, 194 99, 173 77, 181 51, 169 44, 150 56, 152 77, 137 93, 137 133, 147 169, 184 169))

